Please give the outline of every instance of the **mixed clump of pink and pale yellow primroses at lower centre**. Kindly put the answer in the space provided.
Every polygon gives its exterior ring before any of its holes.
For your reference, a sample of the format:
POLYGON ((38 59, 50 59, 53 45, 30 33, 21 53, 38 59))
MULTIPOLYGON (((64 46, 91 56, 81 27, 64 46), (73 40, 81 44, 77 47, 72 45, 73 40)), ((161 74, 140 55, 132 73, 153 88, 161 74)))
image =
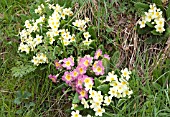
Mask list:
MULTIPOLYGON (((77 63, 73 57, 64 58, 60 61, 55 61, 56 69, 66 69, 64 75, 62 75, 62 80, 72 87, 73 91, 77 92, 79 100, 81 103, 72 104, 71 117, 82 117, 79 110, 76 107, 83 105, 84 109, 92 109, 94 111, 93 115, 86 115, 87 117, 92 116, 103 116, 106 109, 109 106, 113 98, 123 98, 131 97, 133 93, 129 87, 129 79, 131 71, 127 68, 121 70, 121 73, 109 72, 105 79, 98 79, 101 85, 108 86, 108 92, 104 93, 95 87, 94 78, 99 76, 104 76, 104 66, 102 60, 110 60, 109 55, 102 54, 102 51, 98 49, 95 52, 95 56, 91 57, 85 55, 84 57, 79 57, 77 63), (91 73, 94 73, 93 75, 91 73)), ((49 78, 56 82, 57 76, 49 75, 49 78)))

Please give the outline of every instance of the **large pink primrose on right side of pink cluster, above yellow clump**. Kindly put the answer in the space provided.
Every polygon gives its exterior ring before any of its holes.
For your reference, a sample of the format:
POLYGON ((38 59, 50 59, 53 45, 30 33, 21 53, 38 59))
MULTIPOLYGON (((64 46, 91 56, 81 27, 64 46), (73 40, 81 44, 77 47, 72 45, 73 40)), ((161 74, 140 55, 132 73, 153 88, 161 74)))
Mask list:
POLYGON ((104 74, 104 67, 102 65, 102 61, 95 61, 92 66, 92 70, 95 72, 96 75, 103 75, 104 74))

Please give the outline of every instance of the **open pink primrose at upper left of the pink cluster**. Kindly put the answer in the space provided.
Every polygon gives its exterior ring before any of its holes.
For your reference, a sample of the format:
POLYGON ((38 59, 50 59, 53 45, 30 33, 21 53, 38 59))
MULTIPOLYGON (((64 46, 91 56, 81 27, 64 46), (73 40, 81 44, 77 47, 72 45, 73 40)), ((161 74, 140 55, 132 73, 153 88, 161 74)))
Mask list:
POLYGON ((67 70, 70 70, 72 66, 74 66, 74 61, 71 57, 69 58, 64 58, 63 60, 63 67, 65 67, 67 70))

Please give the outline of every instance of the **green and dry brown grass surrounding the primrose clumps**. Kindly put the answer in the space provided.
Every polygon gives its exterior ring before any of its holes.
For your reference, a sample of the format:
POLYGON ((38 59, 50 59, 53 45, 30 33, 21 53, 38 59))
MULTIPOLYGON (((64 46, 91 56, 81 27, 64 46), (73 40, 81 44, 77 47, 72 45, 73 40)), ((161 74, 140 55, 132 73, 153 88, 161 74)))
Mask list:
MULTIPOLYGON (((65 117, 68 116, 65 109, 71 106, 70 100, 58 93, 58 87, 49 81, 47 76, 50 71, 40 70, 22 78, 12 75, 11 69, 20 64, 18 62, 22 64, 17 53, 17 34, 22 27, 20 16, 29 15, 32 2, 0 1, 0 116, 65 117)), ((100 43, 115 59, 115 68, 127 66, 133 70, 130 84, 134 95, 131 99, 115 102, 115 117, 168 117, 170 60, 163 54, 166 45, 147 45, 140 41, 143 37, 134 30, 138 16, 134 14, 133 4, 128 4, 128 0, 112 4, 108 1, 99 3, 94 0, 88 3, 73 0, 72 5, 76 2, 79 5, 74 6, 75 11, 81 8, 77 17, 90 17, 91 23, 97 27, 100 43)))

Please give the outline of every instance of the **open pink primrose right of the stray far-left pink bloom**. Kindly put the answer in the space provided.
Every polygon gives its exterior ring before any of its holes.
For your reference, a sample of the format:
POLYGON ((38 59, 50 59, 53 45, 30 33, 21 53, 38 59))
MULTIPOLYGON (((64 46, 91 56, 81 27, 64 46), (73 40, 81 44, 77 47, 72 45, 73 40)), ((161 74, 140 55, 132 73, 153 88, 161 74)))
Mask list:
POLYGON ((74 78, 68 71, 66 71, 62 76, 62 80, 65 81, 68 85, 71 85, 71 82, 74 80, 74 78))

